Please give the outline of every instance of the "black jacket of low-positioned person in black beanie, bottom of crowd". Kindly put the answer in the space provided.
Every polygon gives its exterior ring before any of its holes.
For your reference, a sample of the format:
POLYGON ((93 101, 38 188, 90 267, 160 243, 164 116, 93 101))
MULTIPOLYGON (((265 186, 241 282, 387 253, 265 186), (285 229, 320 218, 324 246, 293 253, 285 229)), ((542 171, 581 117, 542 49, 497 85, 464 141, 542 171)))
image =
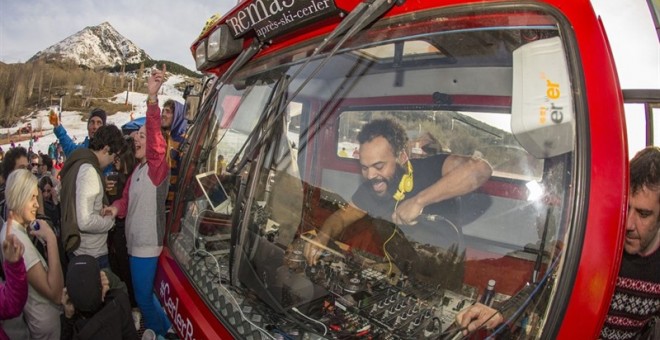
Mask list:
POLYGON ((131 303, 126 292, 121 289, 109 290, 105 295, 103 307, 90 318, 76 313, 71 319, 62 314, 60 319, 63 340, 138 339, 131 315, 131 303))

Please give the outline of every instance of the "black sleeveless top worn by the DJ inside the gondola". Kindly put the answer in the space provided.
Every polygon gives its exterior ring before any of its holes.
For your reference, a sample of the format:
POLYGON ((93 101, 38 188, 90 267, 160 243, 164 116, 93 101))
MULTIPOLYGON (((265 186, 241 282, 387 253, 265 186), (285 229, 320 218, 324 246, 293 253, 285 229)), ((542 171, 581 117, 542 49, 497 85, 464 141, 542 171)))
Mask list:
MULTIPOLYGON (((419 192, 430 187, 442 178, 442 166, 449 155, 439 154, 427 158, 411 159, 413 168, 413 189, 406 193, 405 199, 414 197, 419 192)), ((392 213, 396 201, 392 197, 399 187, 403 170, 398 170, 391 183, 388 184, 387 194, 378 196, 369 181, 364 181, 353 194, 352 201, 355 206, 366 211, 372 218, 392 221, 392 213)), ((434 203, 424 208, 423 216, 413 226, 398 226, 410 241, 420 244, 430 244, 447 249, 452 244, 459 244, 460 225, 457 223, 458 205, 455 199, 434 203), (427 221, 424 216, 442 216, 452 223, 441 221, 427 221), (453 226, 452 226, 453 224, 453 226), (455 228, 454 228, 455 227, 455 228)), ((386 235, 387 236, 387 235, 386 235)))

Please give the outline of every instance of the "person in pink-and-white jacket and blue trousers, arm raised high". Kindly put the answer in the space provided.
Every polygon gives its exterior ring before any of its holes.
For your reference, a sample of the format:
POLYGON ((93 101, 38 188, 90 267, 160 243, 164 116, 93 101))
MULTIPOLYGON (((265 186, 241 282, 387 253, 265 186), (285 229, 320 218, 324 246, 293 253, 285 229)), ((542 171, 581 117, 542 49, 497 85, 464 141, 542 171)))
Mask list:
POLYGON ((158 106, 164 77, 164 65, 162 70, 152 70, 147 81, 147 121, 135 137, 138 164, 126 181, 122 197, 102 211, 104 216, 126 218, 126 246, 135 301, 145 326, 163 337, 168 336, 171 323, 153 298, 153 286, 165 238, 165 198, 170 171, 165 160, 166 144, 160 131, 158 106))

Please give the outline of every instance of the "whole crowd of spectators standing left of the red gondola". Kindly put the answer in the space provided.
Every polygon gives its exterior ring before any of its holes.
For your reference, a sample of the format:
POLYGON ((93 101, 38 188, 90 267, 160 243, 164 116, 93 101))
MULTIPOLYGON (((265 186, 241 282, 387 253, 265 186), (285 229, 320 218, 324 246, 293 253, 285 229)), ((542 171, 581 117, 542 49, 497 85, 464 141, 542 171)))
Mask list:
POLYGON ((47 153, 0 149, 0 340, 177 338, 152 295, 187 127, 183 104, 161 111, 164 76, 130 135, 94 109, 81 143, 55 119, 47 153))

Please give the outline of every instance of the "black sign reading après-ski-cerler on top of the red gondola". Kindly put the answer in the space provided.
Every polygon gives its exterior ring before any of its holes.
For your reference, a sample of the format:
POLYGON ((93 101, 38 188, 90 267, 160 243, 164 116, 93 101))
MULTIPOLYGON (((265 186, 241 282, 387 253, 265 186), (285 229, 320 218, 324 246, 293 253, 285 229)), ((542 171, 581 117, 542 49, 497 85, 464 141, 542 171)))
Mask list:
POLYGON ((267 40, 335 13, 332 0, 254 0, 227 17, 226 24, 234 38, 254 30, 259 39, 267 40))

